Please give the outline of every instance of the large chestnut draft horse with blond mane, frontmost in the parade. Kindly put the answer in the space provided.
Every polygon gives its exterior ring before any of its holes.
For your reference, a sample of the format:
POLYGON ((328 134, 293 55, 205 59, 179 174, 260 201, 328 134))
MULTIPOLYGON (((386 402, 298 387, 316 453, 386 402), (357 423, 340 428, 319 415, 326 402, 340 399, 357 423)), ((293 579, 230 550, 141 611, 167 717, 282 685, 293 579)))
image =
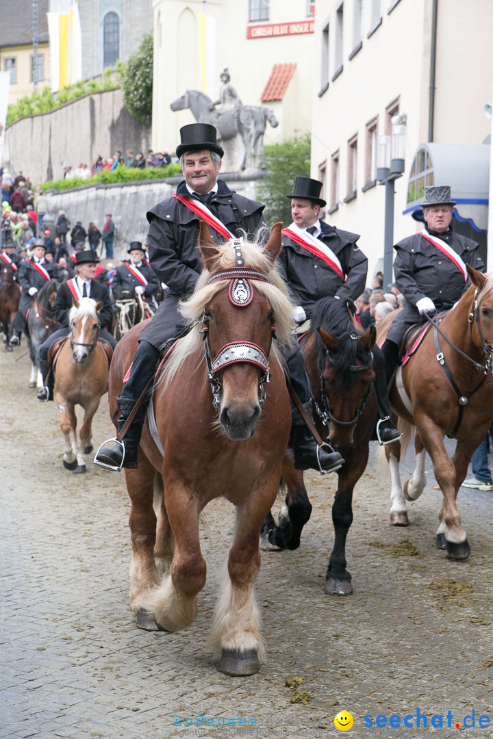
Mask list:
MULTIPOLYGON (((201 223, 204 271, 181 307, 193 324, 166 361, 151 401, 163 452, 146 422, 138 468, 125 469, 132 499, 131 607, 141 628, 176 631, 194 621, 206 571, 200 512, 217 497, 236 505, 213 628, 219 669, 229 675, 257 672, 262 661, 254 600, 259 534, 276 498, 290 432, 288 390, 273 342, 274 329, 280 344, 290 341, 292 330, 293 306, 273 265, 280 228, 273 227, 263 249, 242 241, 217 247, 201 223), (156 521, 157 473, 163 496, 156 521)), ((115 350, 112 414, 142 328, 130 330, 115 350)))

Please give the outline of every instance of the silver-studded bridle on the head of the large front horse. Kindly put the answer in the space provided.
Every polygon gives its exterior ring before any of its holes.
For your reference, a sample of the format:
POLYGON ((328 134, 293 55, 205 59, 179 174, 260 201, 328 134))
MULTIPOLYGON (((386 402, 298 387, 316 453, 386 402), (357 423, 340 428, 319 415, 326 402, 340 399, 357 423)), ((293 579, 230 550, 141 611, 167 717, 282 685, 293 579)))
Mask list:
MULTIPOLYGON (((267 276, 260 270, 245 268, 245 261, 242 257, 242 241, 243 239, 231 239, 231 246, 235 253, 234 268, 220 270, 214 273, 208 281, 208 285, 213 285, 214 282, 220 280, 229 280, 228 296, 231 303, 237 307, 246 307, 251 303, 254 297, 254 287, 251 285, 251 279, 268 282, 267 276)), ((269 382, 271 378, 268 360, 271 347, 269 347, 266 354, 262 347, 251 341, 231 341, 229 344, 225 344, 214 357, 208 335, 210 317, 205 313, 205 310, 201 320, 202 328, 199 333, 203 334, 205 362, 208 370, 207 381, 211 384, 214 410, 216 412, 220 411, 222 397, 222 383, 217 377, 217 373, 230 364, 239 362, 249 362, 262 369, 259 378, 259 406, 262 408, 266 397, 264 383, 269 382)), ((271 324, 271 330, 272 338, 275 338, 276 327, 273 323, 271 324)))

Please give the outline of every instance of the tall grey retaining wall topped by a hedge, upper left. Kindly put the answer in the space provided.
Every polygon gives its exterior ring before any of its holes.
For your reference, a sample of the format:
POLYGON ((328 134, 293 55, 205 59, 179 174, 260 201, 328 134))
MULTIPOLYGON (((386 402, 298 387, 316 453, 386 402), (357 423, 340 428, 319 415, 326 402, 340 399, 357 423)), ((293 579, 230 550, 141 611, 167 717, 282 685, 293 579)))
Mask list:
POLYGON ((33 185, 60 180, 64 166, 92 162, 117 149, 147 156, 151 128, 132 118, 123 106, 120 88, 94 92, 50 113, 21 118, 5 131, 3 163, 13 174, 30 177, 33 185))

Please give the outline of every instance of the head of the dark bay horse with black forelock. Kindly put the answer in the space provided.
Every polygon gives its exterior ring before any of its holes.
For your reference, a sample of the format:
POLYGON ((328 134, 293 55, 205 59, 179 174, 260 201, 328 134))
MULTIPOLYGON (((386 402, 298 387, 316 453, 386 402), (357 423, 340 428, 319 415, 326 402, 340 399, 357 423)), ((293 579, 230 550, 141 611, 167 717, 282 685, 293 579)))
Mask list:
POLYGON ((334 449, 347 449, 353 445, 354 430, 375 378, 372 349, 376 330, 370 326, 363 333, 347 304, 338 300, 330 305, 322 325, 318 321, 313 325, 319 325, 322 406, 330 443, 334 449))

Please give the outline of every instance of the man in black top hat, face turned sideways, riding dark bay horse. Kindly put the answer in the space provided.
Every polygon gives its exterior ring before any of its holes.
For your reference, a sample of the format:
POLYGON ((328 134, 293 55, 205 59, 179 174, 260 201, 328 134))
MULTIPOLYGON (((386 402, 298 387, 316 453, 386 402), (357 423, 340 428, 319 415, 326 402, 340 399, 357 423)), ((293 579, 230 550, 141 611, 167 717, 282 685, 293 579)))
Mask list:
MULTIPOLYGON (((291 298, 296 304, 295 319, 299 323, 310 318, 313 306, 321 298, 335 297, 352 301, 363 292, 367 279, 368 260, 356 242, 358 234, 341 231, 319 219, 326 205, 320 197, 322 183, 309 177, 296 177, 291 199, 293 222, 282 231, 282 252, 279 262, 285 273, 291 298)), ((378 347, 373 348, 375 392, 379 420, 378 442, 390 444, 401 437, 390 420, 390 403, 385 383, 384 358, 378 347)), ((295 347, 289 361, 293 369, 305 370, 302 350, 295 347)), ((310 395, 302 397, 310 406, 310 395)))

